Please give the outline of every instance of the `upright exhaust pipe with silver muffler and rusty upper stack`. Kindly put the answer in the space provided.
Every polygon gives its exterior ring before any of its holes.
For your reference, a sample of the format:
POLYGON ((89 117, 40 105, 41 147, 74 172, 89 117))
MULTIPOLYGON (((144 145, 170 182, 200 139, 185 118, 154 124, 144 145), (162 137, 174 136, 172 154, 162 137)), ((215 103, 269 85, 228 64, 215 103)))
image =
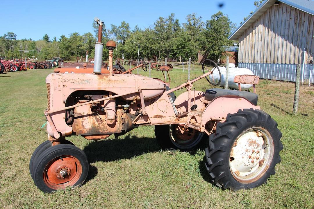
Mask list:
POLYGON ((101 43, 102 38, 102 26, 104 22, 102 22, 99 18, 94 18, 94 21, 99 25, 98 26, 98 40, 95 44, 95 57, 94 57, 94 73, 101 73, 101 65, 102 65, 102 50, 104 48, 104 44, 101 43))

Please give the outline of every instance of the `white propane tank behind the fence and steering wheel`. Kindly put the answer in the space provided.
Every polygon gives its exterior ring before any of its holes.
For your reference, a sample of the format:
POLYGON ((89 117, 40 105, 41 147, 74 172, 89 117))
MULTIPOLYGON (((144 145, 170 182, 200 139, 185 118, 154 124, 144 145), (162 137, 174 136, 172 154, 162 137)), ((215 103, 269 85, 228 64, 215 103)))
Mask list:
MULTIPOLYGON (((221 82, 219 84, 219 86, 224 87, 225 83, 226 83, 226 67, 223 66, 219 66, 219 70, 221 73, 221 82)), ((233 82, 233 79, 235 78, 235 76, 240 76, 240 75, 253 75, 254 73, 248 69, 248 68, 242 68, 242 67, 235 67, 235 65, 233 63, 229 64, 229 76, 228 76, 228 87, 229 88, 235 88, 239 90, 239 85, 238 83, 233 82)), ((215 80, 219 80, 219 73, 217 70, 214 70, 214 79, 215 80)), ((241 90, 245 91, 248 90, 249 88, 251 88, 253 85, 251 84, 241 84, 241 90)))

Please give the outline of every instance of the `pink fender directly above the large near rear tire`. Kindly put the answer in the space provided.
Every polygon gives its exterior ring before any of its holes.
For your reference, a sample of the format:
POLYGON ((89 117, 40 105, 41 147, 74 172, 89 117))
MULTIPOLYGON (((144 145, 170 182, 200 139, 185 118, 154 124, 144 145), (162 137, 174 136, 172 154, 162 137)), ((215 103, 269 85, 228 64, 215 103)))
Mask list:
POLYGON ((208 121, 211 120, 225 120, 228 113, 236 113, 239 109, 261 109, 259 106, 253 105, 244 97, 225 95, 213 99, 205 108, 201 127, 204 127, 208 121))

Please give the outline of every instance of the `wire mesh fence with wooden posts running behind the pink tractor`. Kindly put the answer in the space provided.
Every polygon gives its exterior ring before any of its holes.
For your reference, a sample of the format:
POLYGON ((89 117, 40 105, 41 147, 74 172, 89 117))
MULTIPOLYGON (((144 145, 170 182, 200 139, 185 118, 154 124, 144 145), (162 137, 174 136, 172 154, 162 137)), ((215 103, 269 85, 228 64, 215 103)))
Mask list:
MULTIPOLYGON (((202 65, 189 62, 167 62, 171 64, 173 69, 170 71, 157 70, 152 67, 147 71, 142 68, 134 70, 132 73, 143 76, 159 78, 173 88, 186 82, 188 79, 203 75, 202 65), (169 74, 168 74, 169 73, 169 74)), ((149 65, 149 64, 148 64, 149 65)), ((165 62, 158 63, 158 66, 165 65, 165 62)), ((238 90, 238 84, 233 82, 234 76, 254 74, 260 77, 259 83, 256 85, 256 92, 259 95, 258 105, 262 107, 272 107, 288 114, 293 113, 295 103, 295 93, 298 90, 298 109, 297 113, 314 118, 314 65, 299 65, 300 69, 300 85, 295 88, 296 72, 298 65, 291 64, 265 64, 265 63, 239 63, 239 67, 229 67, 228 87, 229 89, 238 90)), ((130 65, 124 64, 126 69, 130 65)), ((131 65, 131 67, 134 67, 131 65)), ((213 86, 206 79, 201 79, 193 84, 196 90, 206 91, 209 88, 224 88, 226 80, 226 67, 219 66, 221 71, 221 83, 219 86, 213 86)), ((215 75, 214 75, 215 76, 215 75)), ((217 78, 217 75, 215 76, 217 78)), ((242 90, 253 91, 252 88, 242 90)), ((179 90, 176 94, 186 91, 179 90)))

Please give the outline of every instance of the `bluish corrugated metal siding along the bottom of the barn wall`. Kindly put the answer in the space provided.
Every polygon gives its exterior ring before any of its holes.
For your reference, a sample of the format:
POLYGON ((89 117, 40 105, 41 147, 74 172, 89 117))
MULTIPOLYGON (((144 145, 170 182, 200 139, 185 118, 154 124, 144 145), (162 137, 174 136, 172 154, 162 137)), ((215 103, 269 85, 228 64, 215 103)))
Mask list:
MULTIPOLYGON (((239 63, 239 67, 250 69, 254 75, 263 79, 295 82, 295 64, 272 64, 272 63, 239 63)), ((301 75, 303 66, 300 65, 301 75)), ((304 65, 303 80, 314 83, 314 65, 304 65), (311 77, 310 77, 311 72, 311 77)))

